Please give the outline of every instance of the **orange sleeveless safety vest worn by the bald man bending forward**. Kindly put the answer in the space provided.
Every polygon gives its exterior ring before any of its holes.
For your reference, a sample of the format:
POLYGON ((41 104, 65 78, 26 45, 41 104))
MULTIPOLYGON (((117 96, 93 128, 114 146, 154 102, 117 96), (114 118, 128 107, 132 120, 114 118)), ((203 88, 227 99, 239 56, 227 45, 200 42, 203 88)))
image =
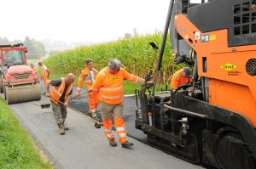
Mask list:
MULTIPOLYGON (((65 82, 65 78, 62 77, 61 78, 61 84, 57 87, 54 87, 52 90, 51 90, 51 93, 50 93, 50 100, 55 103, 55 104, 58 104, 58 101, 60 101, 61 99, 61 95, 62 93, 64 92, 64 89, 65 89, 65 85, 66 85, 66 82, 65 82)), ((73 83, 71 83, 69 85, 69 87, 67 88, 67 92, 65 94, 65 99, 67 97, 67 94, 70 93, 70 91, 72 90, 73 88, 73 83)))

